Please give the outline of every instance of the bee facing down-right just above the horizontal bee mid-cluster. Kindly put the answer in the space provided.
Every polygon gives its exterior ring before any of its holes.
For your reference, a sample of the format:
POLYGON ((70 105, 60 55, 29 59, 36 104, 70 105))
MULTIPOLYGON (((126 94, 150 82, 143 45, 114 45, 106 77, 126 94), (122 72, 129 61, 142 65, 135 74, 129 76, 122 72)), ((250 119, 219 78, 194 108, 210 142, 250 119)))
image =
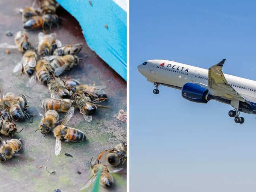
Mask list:
POLYGON ((69 91, 65 87, 63 80, 58 77, 50 80, 48 83, 49 90, 51 92, 51 98, 55 98, 58 95, 60 98, 69 98, 69 91))

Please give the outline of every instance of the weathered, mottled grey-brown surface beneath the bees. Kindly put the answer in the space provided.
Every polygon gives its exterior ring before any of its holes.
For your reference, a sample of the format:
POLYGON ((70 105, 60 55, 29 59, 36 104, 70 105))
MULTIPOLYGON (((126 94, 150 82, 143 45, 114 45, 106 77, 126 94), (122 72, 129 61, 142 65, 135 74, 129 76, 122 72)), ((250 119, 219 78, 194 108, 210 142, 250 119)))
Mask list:
MULTIPOLYGON (((7 37, 4 32, 10 30, 15 34, 16 31, 22 29, 21 15, 15 15, 14 10, 31 4, 30 0, 0 1, 0 42, 14 44, 14 37, 7 37)), ((57 188, 62 192, 79 191, 90 177, 89 161, 91 157, 96 157, 101 150, 116 145, 119 140, 126 140, 126 124, 114 117, 120 108, 126 111, 126 82, 87 47, 78 22, 61 8, 57 13, 63 18, 62 24, 53 29, 57 33, 58 39, 63 44, 81 42, 83 49, 79 56, 87 55, 86 59, 80 62, 79 67, 65 72, 63 76, 72 76, 80 83, 107 86, 105 91, 109 101, 102 104, 111 108, 99 109, 91 123, 87 123, 76 110, 69 125, 82 130, 86 134, 87 140, 83 143, 62 142, 61 154, 55 157, 53 135, 48 134, 44 137, 39 131, 35 132, 40 121, 38 113, 44 113, 41 102, 44 98, 50 97, 48 88, 39 82, 32 88, 27 88, 25 84, 28 76, 12 73, 12 69, 21 59, 22 54, 18 50, 10 50, 11 53, 6 54, 5 49, 1 49, 0 87, 3 88, 4 93, 25 94, 33 98, 29 100, 28 105, 30 111, 36 113, 37 116, 33 123, 29 123, 29 121, 17 123, 18 130, 24 129, 16 134, 15 138, 22 138, 22 154, 31 155, 37 159, 29 161, 23 158, 12 158, 0 164, 0 191, 51 192, 57 188), (73 158, 65 156, 64 153, 72 154, 73 158), (42 168, 38 168, 40 166, 42 168), (55 170, 56 173, 46 172, 46 166, 48 170, 55 170), (81 174, 78 174, 78 171, 81 174)), ((37 34, 40 31, 27 32, 29 40, 33 44, 38 41, 37 34)), ((126 164, 124 167, 126 169, 126 164)), ((125 169, 123 172, 126 172, 125 169)), ((113 175, 115 185, 111 191, 126 191, 126 174, 113 175)), ((108 190, 101 187, 101 191, 108 190)))

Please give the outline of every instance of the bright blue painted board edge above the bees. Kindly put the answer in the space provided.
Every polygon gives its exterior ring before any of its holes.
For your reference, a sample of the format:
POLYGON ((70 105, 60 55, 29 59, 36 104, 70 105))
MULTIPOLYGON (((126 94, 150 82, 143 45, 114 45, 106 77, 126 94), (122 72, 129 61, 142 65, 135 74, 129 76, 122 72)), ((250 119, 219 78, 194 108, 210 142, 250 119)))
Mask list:
POLYGON ((127 80, 126 12, 112 0, 57 1, 78 20, 88 46, 127 80))

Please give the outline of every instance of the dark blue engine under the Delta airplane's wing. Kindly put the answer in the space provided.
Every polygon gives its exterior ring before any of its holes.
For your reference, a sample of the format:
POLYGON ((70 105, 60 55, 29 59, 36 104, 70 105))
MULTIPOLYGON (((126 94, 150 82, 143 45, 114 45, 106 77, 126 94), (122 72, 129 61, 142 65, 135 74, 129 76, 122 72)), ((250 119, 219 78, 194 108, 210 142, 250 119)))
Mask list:
POLYGON ((194 83, 185 83, 181 89, 183 98, 196 103, 207 103, 214 99, 204 87, 194 83))

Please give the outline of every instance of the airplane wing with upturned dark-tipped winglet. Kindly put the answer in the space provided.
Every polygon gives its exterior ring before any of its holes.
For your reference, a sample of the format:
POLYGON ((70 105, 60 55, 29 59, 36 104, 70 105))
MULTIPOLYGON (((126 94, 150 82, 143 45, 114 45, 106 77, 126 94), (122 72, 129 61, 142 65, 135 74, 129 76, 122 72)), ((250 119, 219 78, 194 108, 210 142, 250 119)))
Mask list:
POLYGON ((223 59, 217 65, 213 65, 208 71, 208 87, 211 89, 211 94, 214 96, 224 96, 230 100, 237 99, 251 105, 245 97, 240 95, 236 90, 234 90, 230 83, 227 82, 222 72, 225 60, 226 59, 223 59))

